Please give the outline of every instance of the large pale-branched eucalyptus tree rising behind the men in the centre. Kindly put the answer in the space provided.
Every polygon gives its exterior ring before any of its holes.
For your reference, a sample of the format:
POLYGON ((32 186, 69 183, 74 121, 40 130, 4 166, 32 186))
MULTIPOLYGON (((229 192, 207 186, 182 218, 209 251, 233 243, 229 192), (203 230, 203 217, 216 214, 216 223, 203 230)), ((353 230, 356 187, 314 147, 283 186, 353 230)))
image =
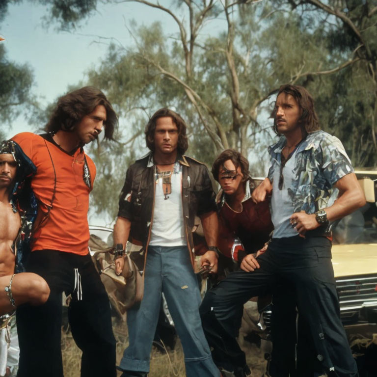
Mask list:
POLYGON ((340 60, 334 67, 322 39, 269 1, 185 0, 175 8, 136 2, 168 14, 177 31, 167 33, 158 23, 130 27, 135 48, 112 45, 101 69, 89 77, 114 93, 114 101, 122 99, 121 108, 175 105, 190 120, 192 133, 212 141, 206 160, 226 148, 248 155, 256 141, 250 135, 266 128, 258 114, 280 84, 350 64, 340 60))

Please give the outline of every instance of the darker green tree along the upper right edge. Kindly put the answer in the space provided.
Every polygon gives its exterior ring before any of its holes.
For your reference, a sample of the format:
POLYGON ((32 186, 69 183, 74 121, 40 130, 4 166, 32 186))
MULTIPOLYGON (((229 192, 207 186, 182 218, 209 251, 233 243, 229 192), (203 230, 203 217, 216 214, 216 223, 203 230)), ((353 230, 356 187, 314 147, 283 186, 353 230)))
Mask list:
POLYGON ((377 165, 377 1, 285 0, 299 15, 302 26, 315 24, 331 55, 350 64, 313 81, 317 102, 329 131, 345 143, 352 162, 377 165))

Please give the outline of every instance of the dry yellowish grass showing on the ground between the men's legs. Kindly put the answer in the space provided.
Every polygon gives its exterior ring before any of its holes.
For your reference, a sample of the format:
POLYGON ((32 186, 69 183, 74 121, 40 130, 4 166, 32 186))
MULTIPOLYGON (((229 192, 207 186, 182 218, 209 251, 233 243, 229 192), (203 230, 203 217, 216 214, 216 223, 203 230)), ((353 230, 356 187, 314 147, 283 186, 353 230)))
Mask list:
MULTIPOLYGON (((119 361, 123 355, 123 350, 128 346, 128 332, 125 322, 119 322, 113 319, 113 331, 117 340, 116 361, 119 361)), ((261 350, 254 344, 245 344, 247 349, 246 358, 248 365, 252 369, 253 377, 260 377, 263 374, 265 361, 261 350)), ((81 351, 77 348, 70 332, 62 333, 61 349, 63 354, 63 369, 65 377, 79 377, 81 364, 81 351)), ((151 372, 149 377, 185 377, 185 364, 181 344, 177 342, 175 350, 169 350, 168 356, 162 354, 155 348, 151 355, 151 372)), ((117 376, 120 376, 119 372, 117 376)), ((200 376, 198 376, 200 377, 200 376)))

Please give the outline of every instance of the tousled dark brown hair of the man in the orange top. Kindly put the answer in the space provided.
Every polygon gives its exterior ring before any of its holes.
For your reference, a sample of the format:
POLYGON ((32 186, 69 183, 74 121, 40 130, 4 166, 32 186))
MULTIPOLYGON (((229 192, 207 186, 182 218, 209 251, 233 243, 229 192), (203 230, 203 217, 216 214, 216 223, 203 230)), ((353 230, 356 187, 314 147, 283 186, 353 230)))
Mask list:
POLYGON ((118 125, 118 117, 105 94, 94 86, 84 86, 60 97, 47 123, 47 132, 53 134, 59 130, 72 132, 81 119, 94 111, 98 105, 106 108, 105 137, 112 140, 114 129, 118 125))

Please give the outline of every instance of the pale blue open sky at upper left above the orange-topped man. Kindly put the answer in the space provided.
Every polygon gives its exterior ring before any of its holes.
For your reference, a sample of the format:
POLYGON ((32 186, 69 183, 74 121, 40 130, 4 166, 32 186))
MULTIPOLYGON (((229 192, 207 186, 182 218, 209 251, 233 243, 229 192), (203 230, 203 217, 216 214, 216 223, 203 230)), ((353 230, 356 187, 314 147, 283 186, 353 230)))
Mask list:
MULTIPOLYGON (((169 6, 171 1, 162 0, 169 6)), ((34 71, 35 93, 46 105, 63 94, 67 86, 85 79, 89 68, 99 65, 106 54, 109 40, 116 37, 124 46, 133 44, 125 27, 132 19, 138 24, 150 24, 160 20, 172 33, 178 31, 176 24, 166 13, 133 2, 102 4, 97 12, 80 24, 75 32, 59 32, 53 24, 49 28, 42 25, 47 7, 29 1, 10 4, 8 14, 1 24, 0 34, 7 58, 17 63, 27 63, 34 71), (101 43, 98 43, 101 41, 101 43)), ((8 137, 29 129, 23 117, 19 117, 8 137)))

